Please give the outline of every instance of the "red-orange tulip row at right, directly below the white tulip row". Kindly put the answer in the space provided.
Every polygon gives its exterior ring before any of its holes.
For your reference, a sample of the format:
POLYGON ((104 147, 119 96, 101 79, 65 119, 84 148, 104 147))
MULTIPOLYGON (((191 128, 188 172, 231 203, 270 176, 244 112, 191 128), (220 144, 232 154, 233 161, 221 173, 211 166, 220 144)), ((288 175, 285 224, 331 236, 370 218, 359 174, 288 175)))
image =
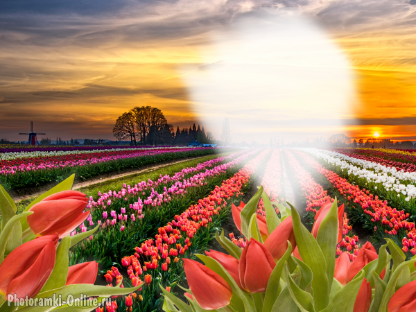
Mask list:
MULTIPOLYGON (((336 191, 348 200, 351 213, 356 212, 358 216, 363 214, 364 218, 360 217, 361 222, 372 224, 375 234, 380 238, 387 236, 396 241, 401 241, 404 238, 407 240, 406 236, 411 233, 412 237, 408 236, 408 239, 413 239, 413 235, 416 234, 415 223, 407 220, 409 214, 388 206, 387 200, 380 200, 378 196, 370 194, 370 191, 350 184, 343 177, 325 168, 306 153, 299 150, 292 151, 302 159, 304 164, 324 177, 336 191)), ((412 254, 416 254, 416 248, 412 248, 410 251, 412 254)))

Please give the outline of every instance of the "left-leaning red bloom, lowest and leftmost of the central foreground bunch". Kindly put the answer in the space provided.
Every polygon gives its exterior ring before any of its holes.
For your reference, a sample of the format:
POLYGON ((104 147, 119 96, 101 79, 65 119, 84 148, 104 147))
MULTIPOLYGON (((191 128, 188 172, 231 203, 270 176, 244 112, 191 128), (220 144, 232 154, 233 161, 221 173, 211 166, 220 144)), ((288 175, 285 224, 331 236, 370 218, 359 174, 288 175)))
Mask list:
POLYGON ((198 304, 206 310, 227 306, 232 297, 232 290, 227 281, 197 261, 183 260, 189 288, 198 304))

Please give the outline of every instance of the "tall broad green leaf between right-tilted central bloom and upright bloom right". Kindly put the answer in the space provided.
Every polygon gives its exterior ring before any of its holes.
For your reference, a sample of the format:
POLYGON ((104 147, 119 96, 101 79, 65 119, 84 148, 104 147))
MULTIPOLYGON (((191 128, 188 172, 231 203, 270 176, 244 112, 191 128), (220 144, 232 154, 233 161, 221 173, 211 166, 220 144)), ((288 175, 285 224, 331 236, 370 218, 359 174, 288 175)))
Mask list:
POLYGON ((299 213, 293 207, 292 222, 297 250, 299 250, 300 257, 302 257, 304 263, 311 268, 313 273, 312 289, 314 305, 315 310, 320 311, 325 309, 329 302, 330 288, 326 260, 315 237, 304 227, 299 213))

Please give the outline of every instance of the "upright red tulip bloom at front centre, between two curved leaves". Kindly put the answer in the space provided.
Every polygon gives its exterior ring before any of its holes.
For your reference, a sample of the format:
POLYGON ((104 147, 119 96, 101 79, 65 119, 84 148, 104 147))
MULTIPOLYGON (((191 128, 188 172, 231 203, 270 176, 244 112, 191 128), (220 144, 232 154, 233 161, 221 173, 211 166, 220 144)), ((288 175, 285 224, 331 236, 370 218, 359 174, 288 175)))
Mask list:
POLYGON ((250 239, 247 247, 241 253, 239 262, 241 286, 250 293, 265 292, 270 274, 275 266, 275 260, 266 246, 255 239, 250 239))

